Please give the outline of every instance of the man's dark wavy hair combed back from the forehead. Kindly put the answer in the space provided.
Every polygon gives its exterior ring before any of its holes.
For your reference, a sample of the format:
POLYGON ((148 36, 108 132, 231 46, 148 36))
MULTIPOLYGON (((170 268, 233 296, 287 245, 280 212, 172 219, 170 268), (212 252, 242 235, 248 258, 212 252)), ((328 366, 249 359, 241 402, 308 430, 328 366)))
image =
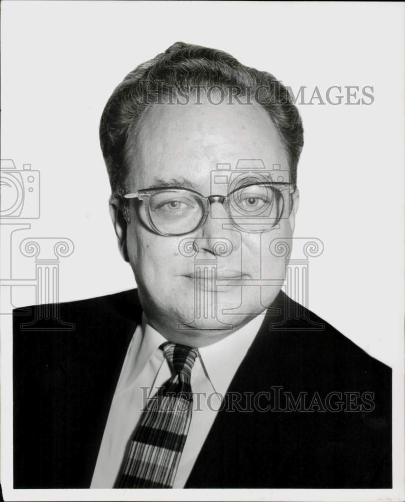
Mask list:
POLYGON ((237 98, 253 95, 267 111, 286 148, 290 181, 304 144, 302 121, 288 89, 272 74, 248 68, 226 52, 176 42, 132 70, 115 88, 100 121, 100 144, 113 193, 122 192, 129 132, 137 134, 149 106, 170 93, 216 87, 237 98), (158 90, 158 92, 157 92, 158 90), (147 99, 145 97, 147 96, 147 99))

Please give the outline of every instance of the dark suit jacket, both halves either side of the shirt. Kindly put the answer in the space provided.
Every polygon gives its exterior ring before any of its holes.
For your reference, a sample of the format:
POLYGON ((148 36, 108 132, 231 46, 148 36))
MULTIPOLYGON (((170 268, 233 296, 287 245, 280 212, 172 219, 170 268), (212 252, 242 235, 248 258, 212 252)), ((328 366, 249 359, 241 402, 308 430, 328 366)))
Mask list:
MULTIPOLYGON (((141 314, 136 290, 15 310, 15 488, 90 486, 141 314)), ((391 487, 391 369, 284 293, 268 314, 186 487, 391 487)))

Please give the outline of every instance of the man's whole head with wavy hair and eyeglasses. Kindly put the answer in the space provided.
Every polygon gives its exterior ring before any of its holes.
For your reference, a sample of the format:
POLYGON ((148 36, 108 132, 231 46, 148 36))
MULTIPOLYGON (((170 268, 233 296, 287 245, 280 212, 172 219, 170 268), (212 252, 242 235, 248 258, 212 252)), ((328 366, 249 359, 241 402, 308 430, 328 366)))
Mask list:
POLYGON ((202 346, 272 303, 285 261, 269 244, 292 235, 303 146, 298 110, 280 82, 221 51, 177 43, 114 90, 100 141, 121 253, 156 329, 202 346), (290 185, 277 185, 286 171, 290 185), (173 187, 192 192, 123 197, 173 187), (210 205, 212 195, 221 197, 210 205), (252 212, 265 203, 270 219, 252 212), (200 226, 189 227, 185 214, 200 226))

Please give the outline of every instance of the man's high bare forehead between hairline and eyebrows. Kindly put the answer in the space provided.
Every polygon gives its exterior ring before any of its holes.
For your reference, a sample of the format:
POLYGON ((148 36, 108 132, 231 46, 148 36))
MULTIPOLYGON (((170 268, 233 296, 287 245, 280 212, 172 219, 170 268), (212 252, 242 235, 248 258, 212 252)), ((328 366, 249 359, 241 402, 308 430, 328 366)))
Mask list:
POLYGON ((217 164, 261 159, 266 169, 288 169, 285 148, 258 104, 158 104, 147 111, 137 141, 128 138, 128 182, 140 189, 154 180, 189 180, 205 190, 217 164))

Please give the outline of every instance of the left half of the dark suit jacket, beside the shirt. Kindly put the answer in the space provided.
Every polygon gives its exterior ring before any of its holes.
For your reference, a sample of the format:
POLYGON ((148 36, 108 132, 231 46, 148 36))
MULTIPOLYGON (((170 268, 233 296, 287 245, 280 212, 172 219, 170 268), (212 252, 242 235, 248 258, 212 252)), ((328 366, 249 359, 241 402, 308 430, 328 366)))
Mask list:
POLYGON ((15 487, 89 486, 141 315, 136 290, 14 311, 15 487))

